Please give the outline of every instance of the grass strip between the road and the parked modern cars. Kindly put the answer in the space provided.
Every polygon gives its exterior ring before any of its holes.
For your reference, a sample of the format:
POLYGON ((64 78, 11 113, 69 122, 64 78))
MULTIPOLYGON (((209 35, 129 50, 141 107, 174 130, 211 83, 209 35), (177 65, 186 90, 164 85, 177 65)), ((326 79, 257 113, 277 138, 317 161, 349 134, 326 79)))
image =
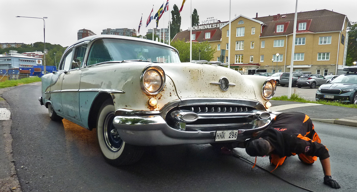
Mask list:
POLYGON ((322 105, 333 105, 333 106, 340 106, 340 107, 357 108, 357 105, 344 104, 344 103, 340 103, 340 102, 336 102, 336 101, 333 101, 333 102, 331 102, 331 101, 309 101, 309 100, 306 100, 305 98, 299 97, 299 94, 296 94, 295 91, 293 94, 291 94, 290 99, 288 98, 287 95, 283 95, 280 97, 273 97, 273 98, 271 98, 271 100, 296 101, 296 102, 302 102, 302 103, 318 103, 318 104, 322 104, 322 105))

